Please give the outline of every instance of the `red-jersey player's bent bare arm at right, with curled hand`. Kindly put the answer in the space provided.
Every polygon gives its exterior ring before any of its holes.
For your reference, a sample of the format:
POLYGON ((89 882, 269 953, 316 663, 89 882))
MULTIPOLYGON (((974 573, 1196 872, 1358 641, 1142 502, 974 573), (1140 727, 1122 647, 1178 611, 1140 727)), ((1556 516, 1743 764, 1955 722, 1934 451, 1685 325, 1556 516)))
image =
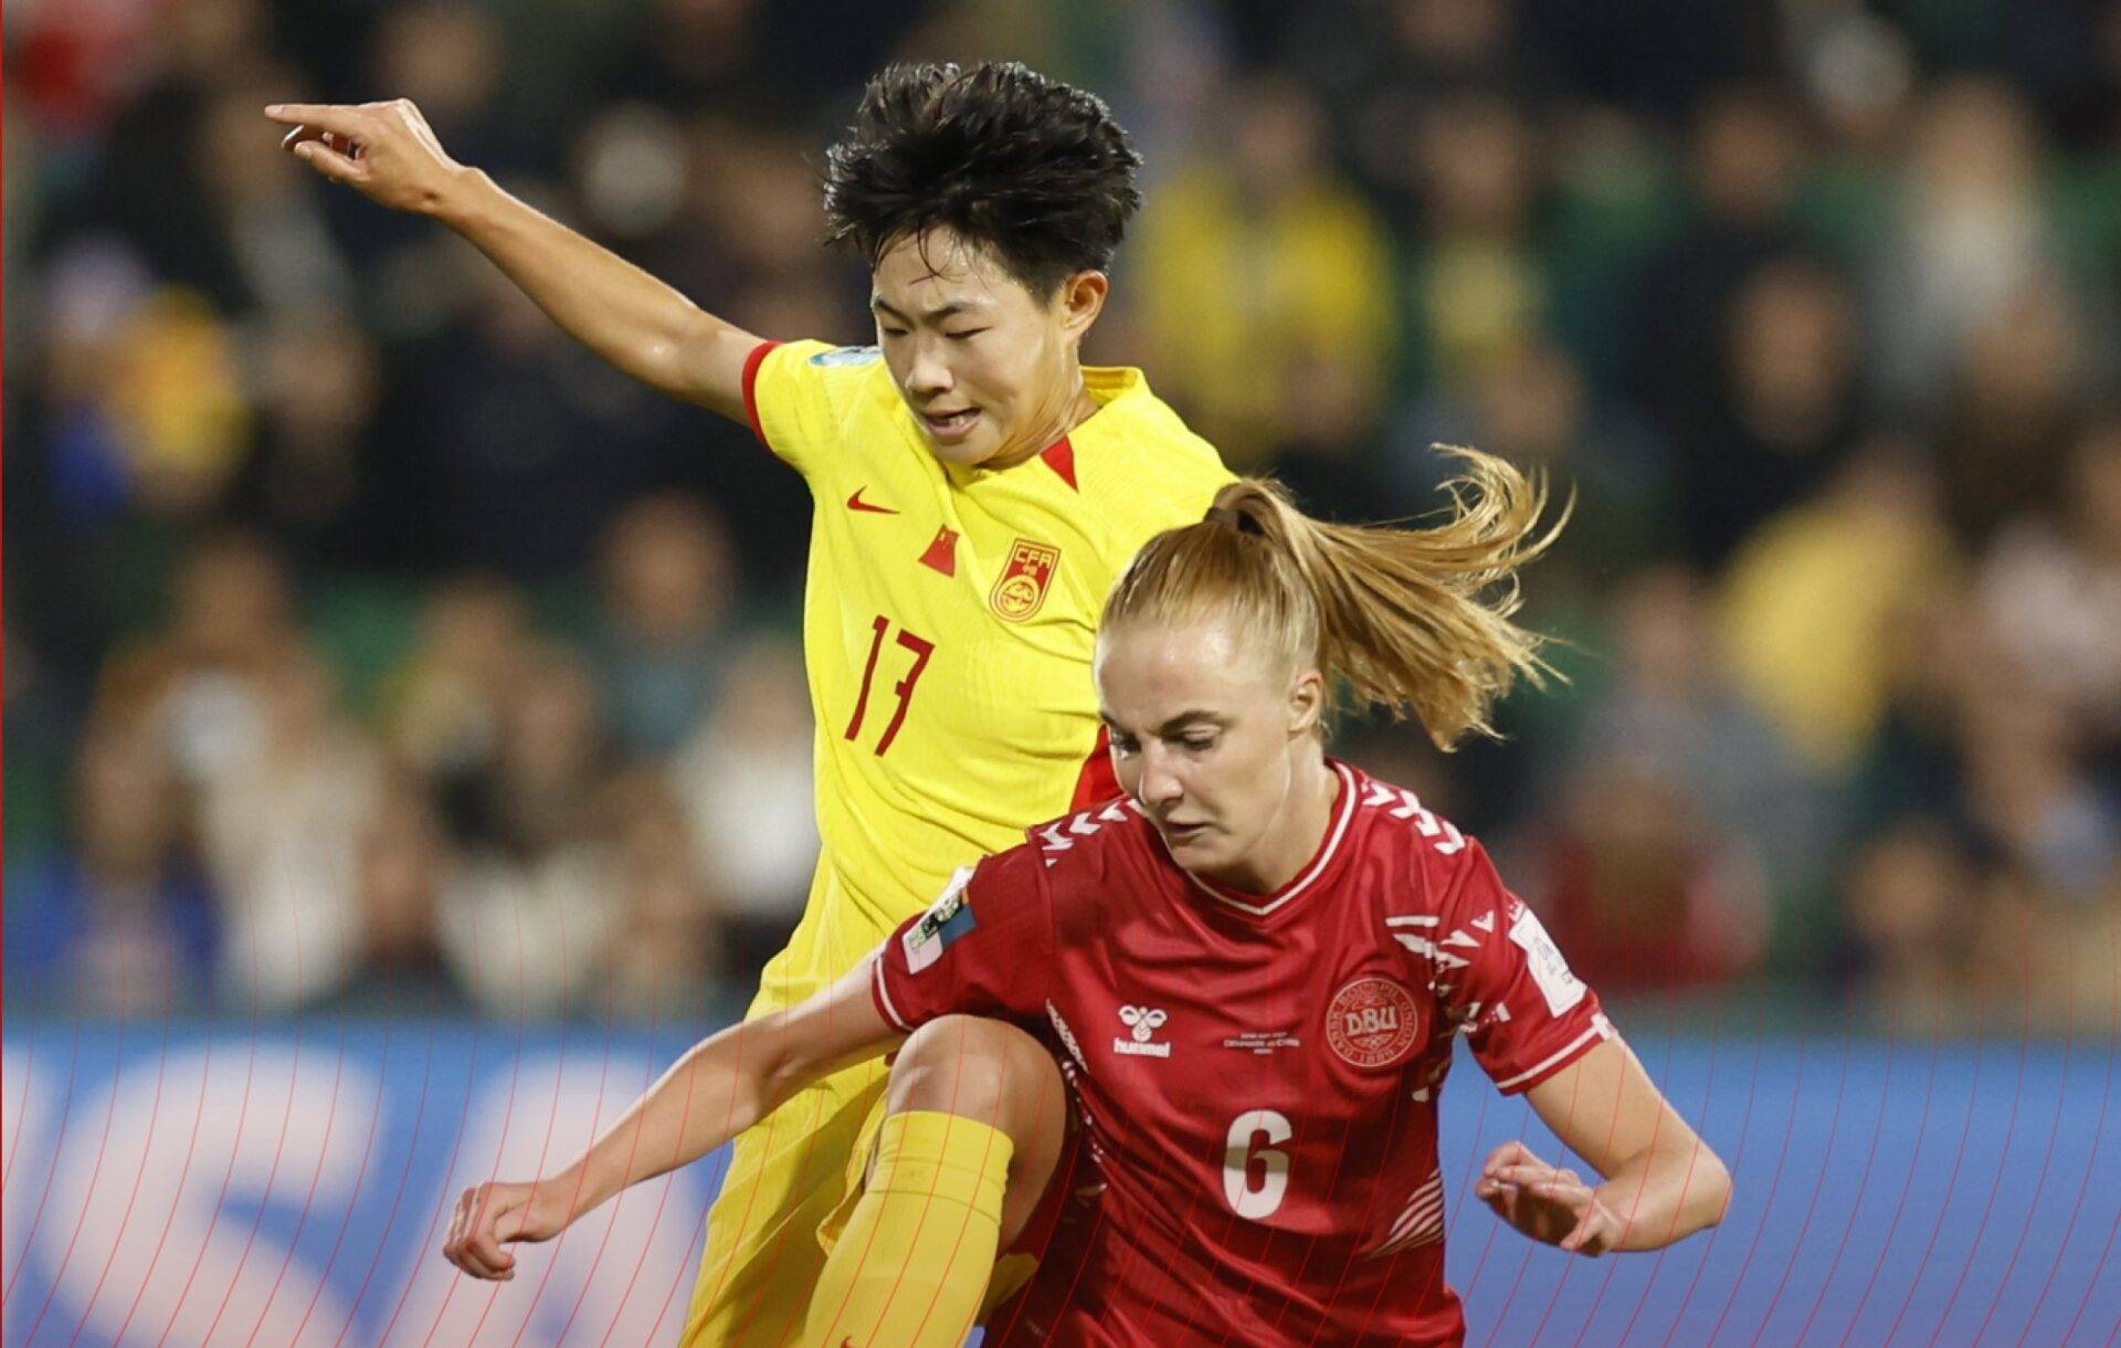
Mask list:
POLYGON ((1531 1108, 1603 1185, 1497 1146, 1474 1195, 1512 1227, 1580 1255, 1657 1250, 1722 1221, 1731 1172, 1680 1119, 1620 1038, 1591 1049, 1529 1091, 1531 1108))

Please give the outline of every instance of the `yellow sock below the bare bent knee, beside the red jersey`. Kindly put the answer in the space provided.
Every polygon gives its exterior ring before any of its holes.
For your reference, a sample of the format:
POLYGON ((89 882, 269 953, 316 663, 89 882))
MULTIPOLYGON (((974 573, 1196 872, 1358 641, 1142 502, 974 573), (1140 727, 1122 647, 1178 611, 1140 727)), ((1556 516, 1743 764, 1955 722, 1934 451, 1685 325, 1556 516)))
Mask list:
POLYGON ((1001 1242, 1014 1144, 959 1114, 884 1119, 876 1170, 810 1295, 817 1348, 957 1348, 1001 1242))

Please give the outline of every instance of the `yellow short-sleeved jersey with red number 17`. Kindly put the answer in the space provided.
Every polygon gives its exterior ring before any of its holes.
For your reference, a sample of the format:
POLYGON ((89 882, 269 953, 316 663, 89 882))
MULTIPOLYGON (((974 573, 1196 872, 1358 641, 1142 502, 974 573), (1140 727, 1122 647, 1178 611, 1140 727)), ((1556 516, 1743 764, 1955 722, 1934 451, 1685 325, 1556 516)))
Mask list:
POLYGON ((1230 471, 1139 369, 1084 382, 1092 416, 982 469, 935 459, 874 346, 768 342, 747 361, 753 431, 810 484, 821 839, 755 1015, 840 977, 957 866, 1111 781, 1090 677, 1105 594, 1230 471))

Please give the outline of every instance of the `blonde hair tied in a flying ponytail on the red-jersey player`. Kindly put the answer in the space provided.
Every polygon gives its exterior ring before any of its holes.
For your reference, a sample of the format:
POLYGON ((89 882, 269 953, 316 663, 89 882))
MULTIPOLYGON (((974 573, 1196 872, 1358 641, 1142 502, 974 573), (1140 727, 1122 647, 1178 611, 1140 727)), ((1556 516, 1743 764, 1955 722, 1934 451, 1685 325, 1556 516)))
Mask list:
POLYGON ((1313 520, 1268 480, 1215 492, 1207 520, 1171 529, 1135 556, 1105 601, 1105 626, 1234 622, 1292 667, 1315 662, 1364 705, 1413 713, 1438 747, 1495 735, 1489 709, 1519 675, 1544 686, 1542 637, 1510 616, 1517 571, 1544 552, 1542 484, 1478 450, 1444 484, 1451 518, 1408 529, 1313 520))

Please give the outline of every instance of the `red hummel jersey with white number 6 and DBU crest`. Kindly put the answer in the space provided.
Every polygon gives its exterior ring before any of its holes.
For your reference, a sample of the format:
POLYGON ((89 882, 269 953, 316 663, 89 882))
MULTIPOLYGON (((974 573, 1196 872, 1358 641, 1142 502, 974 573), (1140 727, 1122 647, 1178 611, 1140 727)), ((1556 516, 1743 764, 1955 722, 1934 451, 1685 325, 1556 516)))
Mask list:
POLYGON ((1612 1025, 1478 843, 1332 771, 1326 839, 1277 894, 1188 875, 1114 800, 961 870, 884 943, 884 1019, 1037 1034, 1084 1123, 995 1342, 1463 1337, 1436 1159, 1451 1040, 1517 1093, 1612 1025))

